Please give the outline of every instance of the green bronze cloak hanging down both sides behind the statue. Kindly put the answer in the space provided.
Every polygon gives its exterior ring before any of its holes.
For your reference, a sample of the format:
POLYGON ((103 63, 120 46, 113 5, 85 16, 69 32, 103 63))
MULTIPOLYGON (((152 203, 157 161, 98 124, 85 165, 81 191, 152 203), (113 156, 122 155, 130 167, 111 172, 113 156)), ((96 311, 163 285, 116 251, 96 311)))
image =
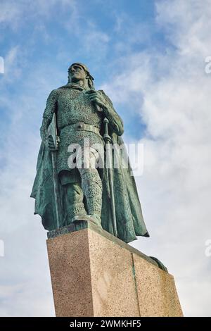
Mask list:
MULTIPOLYGON (((109 134, 113 144, 122 146, 122 137, 116 135, 109 126, 109 134)), ((112 157, 114 158, 113 154, 112 157)), ((129 164, 129 163, 128 163, 129 164)), ((146 225, 143 221, 141 204, 139 201, 136 183, 132 174, 132 168, 122 166, 112 169, 113 189, 115 199, 115 214, 117 220, 118 237, 124 242, 132 242, 136 236, 149 237, 146 225)), ((110 210, 110 188, 108 185, 108 169, 102 169, 101 179, 103 183, 103 205, 101 212, 102 227, 113 234, 113 222, 110 210)), ((51 151, 41 142, 37 159, 37 175, 34 180, 31 197, 35 199, 34 214, 41 216, 41 221, 46 230, 56 229, 56 208, 53 193, 53 170, 51 151)), ((65 199, 65 189, 60 185, 60 199, 65 199)), ((61 219, 65 220, 65 208, 61 219)), ((61 224, 60 226, 63 226, 61 224)))

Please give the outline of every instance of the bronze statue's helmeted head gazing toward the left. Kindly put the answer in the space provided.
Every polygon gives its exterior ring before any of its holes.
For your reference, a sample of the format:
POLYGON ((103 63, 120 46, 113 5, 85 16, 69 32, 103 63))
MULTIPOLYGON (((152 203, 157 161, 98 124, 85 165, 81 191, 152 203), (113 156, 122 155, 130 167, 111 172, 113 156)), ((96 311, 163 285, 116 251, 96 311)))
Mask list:
POLYGON ((94 88, 94 78, 90 75, 87 65, 82 63, 72 63, 68 68, 68 83, 84 80, 90 89, 94 88))

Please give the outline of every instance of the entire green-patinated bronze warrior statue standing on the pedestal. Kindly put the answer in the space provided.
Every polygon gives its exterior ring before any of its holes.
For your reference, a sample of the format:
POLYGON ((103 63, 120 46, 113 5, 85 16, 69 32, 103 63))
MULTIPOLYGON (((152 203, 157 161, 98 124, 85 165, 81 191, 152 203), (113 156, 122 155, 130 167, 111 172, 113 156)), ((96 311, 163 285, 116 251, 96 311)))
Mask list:
POLYGON ((82 146, 89 138, 91 145, 97 142, 104 148, 108 137, 111 144, 124 144, 122 120, 108 96, 94 89, 93 80, 85 65, 73 63, 68 69, 68 84, 49 94, 31 194, 35 199, 34 213, 41 216, 49 231, 90 218, 90 222, 124 242, 132 242, 136 236, 149 237, 130 166, 124 168, 120 163, 120 168, 111 170, 80 170, 68 165, 70 144, 82 146), (55 118, 59 142, 49 137, 49 125, 55 118))

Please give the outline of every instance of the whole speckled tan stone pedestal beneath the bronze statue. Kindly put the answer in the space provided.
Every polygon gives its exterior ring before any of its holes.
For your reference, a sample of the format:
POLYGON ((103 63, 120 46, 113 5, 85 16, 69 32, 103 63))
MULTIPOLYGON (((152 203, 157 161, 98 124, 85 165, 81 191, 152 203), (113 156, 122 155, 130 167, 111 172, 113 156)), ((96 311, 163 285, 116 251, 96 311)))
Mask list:
POLYGON ((56 316, 182 316, 174 278, 91 223, 49 232, 56 316))

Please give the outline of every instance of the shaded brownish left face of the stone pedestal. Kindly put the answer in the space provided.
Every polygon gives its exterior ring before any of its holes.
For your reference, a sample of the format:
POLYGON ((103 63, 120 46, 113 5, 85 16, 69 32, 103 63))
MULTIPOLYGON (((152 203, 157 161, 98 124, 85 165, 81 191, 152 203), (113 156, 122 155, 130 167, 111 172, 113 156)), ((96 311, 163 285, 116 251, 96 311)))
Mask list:
POLYGON ((56 316, 93 316, 87 230, 48 239, 56 316))

